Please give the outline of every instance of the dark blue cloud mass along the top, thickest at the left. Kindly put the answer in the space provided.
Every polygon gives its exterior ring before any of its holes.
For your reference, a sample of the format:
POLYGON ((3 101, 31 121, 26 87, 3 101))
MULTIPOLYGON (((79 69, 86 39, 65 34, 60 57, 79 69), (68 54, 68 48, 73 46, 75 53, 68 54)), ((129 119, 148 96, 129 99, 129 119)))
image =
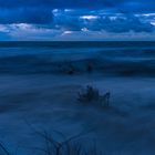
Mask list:
POLYGON ((154 12, 154 0, 0 0, 0 23, 50 23, 53 9, 154 12))

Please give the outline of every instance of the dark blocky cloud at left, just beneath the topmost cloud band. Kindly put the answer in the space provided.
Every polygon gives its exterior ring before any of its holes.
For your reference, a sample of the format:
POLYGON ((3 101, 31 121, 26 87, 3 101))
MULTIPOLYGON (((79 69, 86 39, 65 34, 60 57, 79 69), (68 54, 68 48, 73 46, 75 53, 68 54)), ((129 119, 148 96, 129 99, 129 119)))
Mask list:
POLYGON ((50 23, 52 13, 42 8, 0 9, 0 23, 50 23))

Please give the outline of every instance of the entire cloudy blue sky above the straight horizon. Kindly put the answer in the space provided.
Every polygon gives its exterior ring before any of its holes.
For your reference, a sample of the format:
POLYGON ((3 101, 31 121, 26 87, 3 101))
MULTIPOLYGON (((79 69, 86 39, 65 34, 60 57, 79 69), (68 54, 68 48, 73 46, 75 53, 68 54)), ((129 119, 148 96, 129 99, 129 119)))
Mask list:
POLYGON ((0 0, 0 40, 155 41, 155 0, 0 0))

